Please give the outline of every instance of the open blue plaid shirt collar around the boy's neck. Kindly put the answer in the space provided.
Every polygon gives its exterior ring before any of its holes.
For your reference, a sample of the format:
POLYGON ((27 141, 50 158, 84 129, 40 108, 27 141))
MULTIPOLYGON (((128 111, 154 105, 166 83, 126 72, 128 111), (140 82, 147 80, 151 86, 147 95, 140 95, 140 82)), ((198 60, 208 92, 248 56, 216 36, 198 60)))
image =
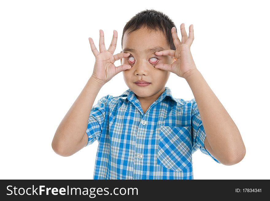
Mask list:
MULTIPOLYGON (((160 97, 156 100, 156 102, 158 103, 158 102, 162 101, 167 96, 170 97, 175 102, 182 104, 182 102, 180 100, 172 97, 172 91, 169 87, 165 87, 165 91, 160 95, 160 97)), ((113 98, 116 98, 116 97, 127 97, 127 99, 130 102, 135 102, 136 100, 138 100, 137 97, 135 96, 135 93, 131 89, 127 89, 120 96, 114 96, 113 98)))

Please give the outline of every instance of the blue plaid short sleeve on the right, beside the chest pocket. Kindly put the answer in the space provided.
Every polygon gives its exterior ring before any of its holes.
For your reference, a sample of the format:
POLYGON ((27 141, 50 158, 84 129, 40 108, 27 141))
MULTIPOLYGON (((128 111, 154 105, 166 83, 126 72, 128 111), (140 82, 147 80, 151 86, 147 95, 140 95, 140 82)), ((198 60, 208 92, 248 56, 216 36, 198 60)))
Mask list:
POLYGON ((203 154, 206 154, 214 161, 220 163, 214 156, 212 156, 208 150, 204 147, 204 141, 206 138, 206 134, 203 128, 203 122, 201 120, 201 116, 199 113, 199 109, 196 103, 195 98, 191 100, 192 107, 191 107, 191 133, 192 133, 192 154, 200 149, 203 154))

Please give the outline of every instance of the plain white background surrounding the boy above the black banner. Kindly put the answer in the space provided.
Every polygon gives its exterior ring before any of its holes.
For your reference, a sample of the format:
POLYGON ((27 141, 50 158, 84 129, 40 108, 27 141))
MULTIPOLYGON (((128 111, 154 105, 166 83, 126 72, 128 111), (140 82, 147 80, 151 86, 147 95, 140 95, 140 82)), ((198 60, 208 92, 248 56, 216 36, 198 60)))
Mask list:
MULTIPOLYGON (((51 147, 55 131, 90 78, 99 29, 109 47, 131 17, 156 9, 194 25, 197 69, 236 123, 246 147, 236 165, 218 164, 197 150, 194 179, 270 179, 269 15, 266 1, 1 1, 1 179, 92 179, 98 142, 70 157, 51 147)), ((121 65, 120 60, 115 62, 121 65)), ((191 100, 186 80, 171 73, 173 97, 191 100)), ((128 87, 122 72, 102 96, 128 87)))

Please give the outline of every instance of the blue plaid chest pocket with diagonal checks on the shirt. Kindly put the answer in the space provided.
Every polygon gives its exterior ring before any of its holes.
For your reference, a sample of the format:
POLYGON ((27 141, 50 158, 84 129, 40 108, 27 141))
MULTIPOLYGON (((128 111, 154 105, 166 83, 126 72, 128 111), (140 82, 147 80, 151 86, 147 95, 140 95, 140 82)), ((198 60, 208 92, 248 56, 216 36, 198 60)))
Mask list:
POLYGON ((191 126, 159 127, 157 164, 179 172, 192 166, 191 126))

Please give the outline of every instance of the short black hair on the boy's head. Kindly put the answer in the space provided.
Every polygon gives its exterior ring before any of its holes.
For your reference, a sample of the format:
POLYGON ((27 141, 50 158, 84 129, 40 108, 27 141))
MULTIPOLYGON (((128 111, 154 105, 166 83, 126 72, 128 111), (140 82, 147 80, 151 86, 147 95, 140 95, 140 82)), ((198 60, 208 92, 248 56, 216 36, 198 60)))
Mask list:
POLYGON ((164 34, 167 40, 167 44, 170 46, 171 50, 176 50, 172 40, 172 32, 171 32, 172 27, 176 28, 176 25, 167 15, 154 9, 150 10, 146 9, 141 11, 126 23, 123 29, 123 35, 121 40, 122 48, 123 48, 123 36, 125 32, 128 32, 127 34, 129 34, 130 32, 145 27, 155 31, 158 30, 161 31, 164 34))

